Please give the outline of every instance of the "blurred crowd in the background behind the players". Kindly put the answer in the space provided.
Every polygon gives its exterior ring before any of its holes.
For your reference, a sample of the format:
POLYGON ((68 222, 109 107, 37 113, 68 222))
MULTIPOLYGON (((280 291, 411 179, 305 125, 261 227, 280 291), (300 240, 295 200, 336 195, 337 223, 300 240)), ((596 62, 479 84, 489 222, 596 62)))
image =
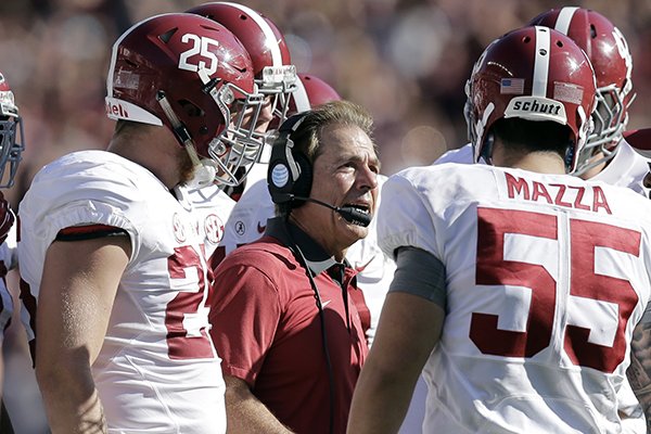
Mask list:
MULTIPOLYGON (((629 129, 651 126, 651 0, 243 0, 283 31, 293 63, 375 118, 382 171, 430 164, 467 142, 463 86, 493 39, 562 5, 593 9, 626 37, 634 59, 629 129)), ((106 71, 114 40, 148 16, 201 0, 0 1, 0 71, 25 124, 14 209, 34 174, 58 156, 104 149, 106 71)), ((15 280, 15 279, 14 279, 15 280)), ((14 286, 16 286, 14 284, 14 286)), ((4 398, 17 433, 46 433, 15 317, 4 342, 4 398)))

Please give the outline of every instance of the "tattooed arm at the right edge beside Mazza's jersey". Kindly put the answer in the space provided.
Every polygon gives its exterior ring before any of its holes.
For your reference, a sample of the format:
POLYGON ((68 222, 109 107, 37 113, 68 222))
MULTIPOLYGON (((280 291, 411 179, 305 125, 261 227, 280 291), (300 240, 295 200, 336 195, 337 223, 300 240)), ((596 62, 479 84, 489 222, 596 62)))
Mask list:
POLYGON ((647 432, 651 432, 651 310, 649 308, 633 331, 630 366, 626 375, 644 410, 647 432))

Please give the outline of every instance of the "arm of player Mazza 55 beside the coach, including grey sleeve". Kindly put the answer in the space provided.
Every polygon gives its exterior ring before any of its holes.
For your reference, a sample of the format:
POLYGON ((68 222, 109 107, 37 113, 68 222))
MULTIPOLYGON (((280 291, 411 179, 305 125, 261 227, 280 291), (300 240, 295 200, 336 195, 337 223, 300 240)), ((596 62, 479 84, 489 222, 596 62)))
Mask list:
POLYGON ((431 254, 401 247, 378 334, 350 407, 348 433, 396 433, 445 319, 445 269, 431 254))

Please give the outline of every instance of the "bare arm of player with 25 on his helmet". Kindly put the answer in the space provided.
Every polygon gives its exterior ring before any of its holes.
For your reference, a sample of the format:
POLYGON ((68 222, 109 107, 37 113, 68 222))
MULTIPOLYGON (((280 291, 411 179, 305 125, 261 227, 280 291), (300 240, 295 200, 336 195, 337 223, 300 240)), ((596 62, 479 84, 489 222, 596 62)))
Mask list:
POLYGON ((105 433, 90 367, 130 255, 126 234, 54 241, 37 309, 36 376, 52 433, 105 433))

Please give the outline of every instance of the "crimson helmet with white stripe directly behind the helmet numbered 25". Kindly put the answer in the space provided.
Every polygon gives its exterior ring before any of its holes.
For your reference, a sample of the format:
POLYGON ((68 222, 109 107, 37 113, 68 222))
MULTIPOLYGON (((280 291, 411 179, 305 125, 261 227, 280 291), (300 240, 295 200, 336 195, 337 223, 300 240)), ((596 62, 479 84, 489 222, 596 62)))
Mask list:
POLYGON ((222 1, 204 3, 187 12, 216 21, 240 39, 251 55, 258 92, 270 99, 275 124, 284 122, 297 77, 284 36, 276 24, 243 4, 222 1))

